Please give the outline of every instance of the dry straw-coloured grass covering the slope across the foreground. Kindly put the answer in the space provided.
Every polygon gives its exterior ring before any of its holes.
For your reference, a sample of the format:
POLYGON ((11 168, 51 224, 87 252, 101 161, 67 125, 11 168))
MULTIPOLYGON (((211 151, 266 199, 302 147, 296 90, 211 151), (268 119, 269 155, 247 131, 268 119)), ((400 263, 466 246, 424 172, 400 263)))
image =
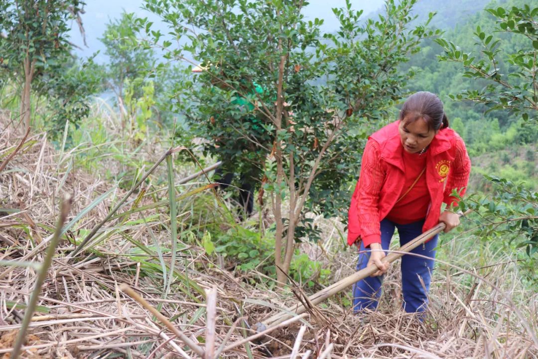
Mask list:
MULTIPOLYGON (((6 122, 0 123, 4 128, 6 122)), ((0 134, 0 160, 15 149, 22 136, 11 127, 0 134)), ((70 194, 74 199, 70 220, 113 185, 69 166, 71 153, 54 151, 44 133, 31 134, 27 143, 30 145, 23 146, 0 173, 0 207, 21 211, 0 217, 0 259, 40 263, 63 195, 70 194)), ((148 156, 155 158, 157 152, 148 156)), ((120 284, 134 288, 207 358, 219 353, 224 358, 263 357, 268 353, 281 358, 538 357, 538 347, 525 330, 526 326, 532 328, 536 336, 538 297, 520 286, 516 266, 509 257, 502 261, 508 263, 477 270, 476 275, 438 264, 431 310, 424 322, 399 309, 399 270, 393 269, 386 276, 377 312, 353 315, 347 305, 348 295, 342 293, 315 313, 308 313, 301 322, 267 333, 263 342, 245 342, 244 337, 252 334, 244 329, 246 323, 262 321, 285 304, 293 304, 294 296, 290 291, 277 293, 252 287, 245 278, 259 278, 260 274, 243 273, 239 277, 213 263, 203 248, 188 243, 180 243, 177 276, 171 293, 164 295, 161 263, 152 246, 154 237, 163 248, 163 261, 169 265, 165 249, 170 248, 170 220, 166 207, 144 211, 147 224, 132 222, 140 220, 140 214, 110 221, 101 231, 103 241, 76 261, 65 259, 74 249, 73 241, 80 242, 125 192, 114 189, 63 236, 30 325, 24 357, 201 356, 122 292, 120 284), (144 253, 140 248, 151 251, 144 253)), ((142 203, 152 203, 162 196, 166 191, 153 191, 142 203)), ((181 211, 179 215, 183 215, 181 211)), ((326 234, 324 243, 305 250, 332 270, 333 279, 341 279, 353 271, 354 254, 342 250, 334 223, 319 223, 326 234)), ((476 253, 451 246, 443 250, 461 254, 455 263, 476 267, 476 253)), ((4 357, 9 356, 36 278, 31 266, 0 266, 0 355, 4 357)), ((301 292, 300 288, 292 289, 301 292)))

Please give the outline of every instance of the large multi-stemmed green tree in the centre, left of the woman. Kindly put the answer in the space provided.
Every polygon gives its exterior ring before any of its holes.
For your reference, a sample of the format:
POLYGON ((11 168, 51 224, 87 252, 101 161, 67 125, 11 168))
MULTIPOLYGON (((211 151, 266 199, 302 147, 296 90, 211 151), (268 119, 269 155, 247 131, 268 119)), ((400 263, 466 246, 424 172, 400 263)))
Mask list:
POLYGON ((172 47, 140 20, 165 57, 203 68, 184 84, 176 108, 208 140, 207 153, 263 173, 257 180, 275 218, 281 284, 295 241, 315 234, 305 213, 332 216, 348 206, 346 186, 356 180, 370 124, 389 116, 414 74, 399 73, 398 66, 434 34, 407 28, 415 2, 388 0, 384 16, 362 22, 362 11, 348 1, 334 9, 341 23, 334 34, 321 33, 323 20, 304 18, 302 0, 145 4, 175 40, 188 40, 172 47))

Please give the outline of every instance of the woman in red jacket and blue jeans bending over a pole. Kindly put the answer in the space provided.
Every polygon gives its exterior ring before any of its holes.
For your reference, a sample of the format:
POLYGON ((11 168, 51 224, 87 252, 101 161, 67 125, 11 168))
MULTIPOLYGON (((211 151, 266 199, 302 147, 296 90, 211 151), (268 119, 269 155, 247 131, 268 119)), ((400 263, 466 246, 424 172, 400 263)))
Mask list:
MULTIPOLYGON (((443 103, 432 93, 410 96, 398 120, 370 136, 351 199, 348 243, 360 241, 357 270, 375 264, 378 271, 353 286, 355 311, 377 306, 382 274, 388 268, 381 259, 395 228, 404 245, 438 222, 446 224, 445 232, 458 226, 459 216, 451 210, 457 199, 451 193, 465 193, 470 171, 465 144, 448 128, 443 103), (447 209, 441 213, 443 202, 447 209)), ((421 257, 402 257, 406 312, 426 310, 437 238, 411 251, 421 257)))

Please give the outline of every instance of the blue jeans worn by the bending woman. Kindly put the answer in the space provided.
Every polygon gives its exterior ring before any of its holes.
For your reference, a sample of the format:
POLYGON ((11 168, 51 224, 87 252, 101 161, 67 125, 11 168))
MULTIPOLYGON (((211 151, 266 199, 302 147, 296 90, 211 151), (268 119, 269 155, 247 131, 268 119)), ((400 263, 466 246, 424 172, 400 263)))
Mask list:
MULTIPOLYGON (((385 251, 388 250, 392 235, 394 234, 394 228, 398 228, 400 245, 404 245, 422 234, 423 224, 423 220, 409 224, 397 224, 384 219, 380 223, 381 247, 385 251)), ((415 257, 413 255, 404 255, 401 258, 402 293, 404 295, 403 306, 408 313, 426 311, 438 237, 436 235, 426 244, 421 244, 411 251, 411 253, 426 256, 429 259, 415 257), (422 286, 420 278, 422 278, 424 286, 422 286), (424 287, 426 287, 425 290, 424 287)), ((369 259, 370 248, 365 250, 364 243, 361 243, 357 270, 366 268, 369 259)), ((353 285, 353 311, 359 312, 364 308, 376 309, 379 297, 381 296, 382 281, 383 276, 368 277, 359 280, 353 285)))

